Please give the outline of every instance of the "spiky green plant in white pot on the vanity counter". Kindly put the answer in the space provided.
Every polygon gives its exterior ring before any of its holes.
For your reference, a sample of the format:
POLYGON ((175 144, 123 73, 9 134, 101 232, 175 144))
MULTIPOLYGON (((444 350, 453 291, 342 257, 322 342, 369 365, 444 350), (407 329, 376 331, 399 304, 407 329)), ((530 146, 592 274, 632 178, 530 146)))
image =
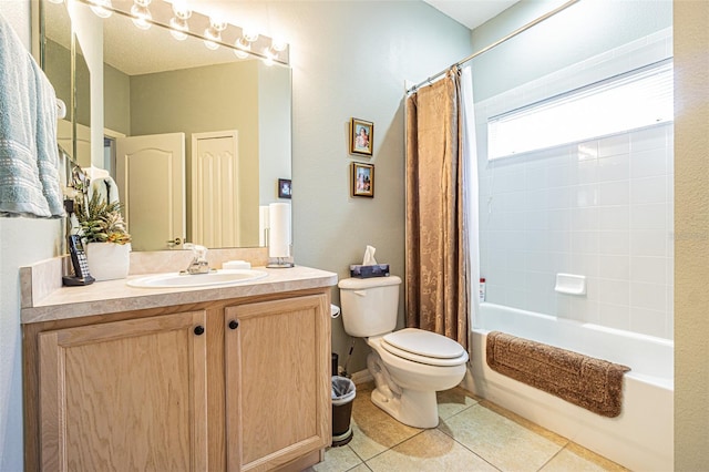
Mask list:
POLYGON ((131 235, 121 215, 121 203, 107 203, 95 192, 80 195, 74 214, 84 242, 89 271, 96 280, 125 278, 131 263, 131 235))

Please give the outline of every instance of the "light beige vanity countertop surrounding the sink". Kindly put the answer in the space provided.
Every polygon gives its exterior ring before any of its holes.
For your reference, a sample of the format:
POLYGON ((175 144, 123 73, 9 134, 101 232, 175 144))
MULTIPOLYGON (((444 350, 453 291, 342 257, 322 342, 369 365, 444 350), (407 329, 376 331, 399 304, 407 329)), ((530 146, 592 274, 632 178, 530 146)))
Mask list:
POLYGON ((161 308, 331 287, 337 284, 337 274, 309 267, 296 266, 282 269, 254 267, 254 269, 263 270, 268 276, 228 287, 136 288, 126 285, 127 280, 144 277, 144 275, 130 276, 127 279, 96 281, 84 287, 62 287, 39 301, 24 305, 21 322, 31 324, 116 311, 161 308))

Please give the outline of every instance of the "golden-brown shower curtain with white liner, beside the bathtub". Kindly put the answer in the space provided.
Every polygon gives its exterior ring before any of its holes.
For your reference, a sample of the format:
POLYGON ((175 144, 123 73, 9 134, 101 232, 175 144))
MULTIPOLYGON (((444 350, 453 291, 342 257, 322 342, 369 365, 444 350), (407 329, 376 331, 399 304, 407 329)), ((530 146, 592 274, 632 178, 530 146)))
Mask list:
POLYGON ((472 103, 470 68, 458 66, 407 100, 407 326, 466 349, 479 279, 472 103))

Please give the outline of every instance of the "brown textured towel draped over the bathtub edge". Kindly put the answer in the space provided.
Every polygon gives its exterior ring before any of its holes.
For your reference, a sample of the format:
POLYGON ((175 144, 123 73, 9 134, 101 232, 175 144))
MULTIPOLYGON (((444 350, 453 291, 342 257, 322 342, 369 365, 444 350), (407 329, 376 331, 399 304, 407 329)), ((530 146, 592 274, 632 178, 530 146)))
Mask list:
POLYGON ((500 331, 487 335, 487 366, 604 417, 620 414, 629 367, 500 331))

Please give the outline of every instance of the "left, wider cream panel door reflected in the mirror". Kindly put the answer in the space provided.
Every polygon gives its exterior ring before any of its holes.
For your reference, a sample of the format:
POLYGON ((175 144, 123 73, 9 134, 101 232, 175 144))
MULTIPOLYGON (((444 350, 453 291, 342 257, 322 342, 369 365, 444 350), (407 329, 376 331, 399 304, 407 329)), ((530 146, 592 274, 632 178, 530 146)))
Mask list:
POLYGON ((133 250, 163 250, 185 239, 185 134, 116 140, 116 184, 133 250))

